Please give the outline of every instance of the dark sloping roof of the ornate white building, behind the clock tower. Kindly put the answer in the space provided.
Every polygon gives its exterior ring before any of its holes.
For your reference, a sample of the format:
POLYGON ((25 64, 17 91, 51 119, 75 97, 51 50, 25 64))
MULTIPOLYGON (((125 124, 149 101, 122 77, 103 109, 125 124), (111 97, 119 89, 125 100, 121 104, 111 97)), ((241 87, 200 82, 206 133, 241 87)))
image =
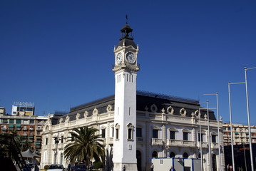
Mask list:
MULTIPOLYGON (((86 103, 83 105, 78 105, 74 108, 71 108, 70 112, 67 114, 69 116, 69 120, 76 120, 77 113, 80 114, 80 118, 84 118, 83 113, 85 111, 88 112, 88 116, 93 114, 93 110, 97 108, 98 114, 106 113, 106 108, 108 105, 112 106, 112 110, 114 110, 115 105, 115 95, 108 96, 106 98, 101 98, 99 100, 95 100, 90 103, 86 103)), ((187 112, 186 117, 191 117, 191 113, 195 113, 195 110, 198 110, 200 107, 198 100, 193 100, 189 98, 180 98, 171 95, 164 95, 160 93, 150 93, 142 90, 137 91, 137 111, 146 111, 154 112, 151 109, 151 106, 156 107, 155 113, 162 113, 162 109, 165 111, 171 106, 173 108, 173 115, 180 115, 180 110, 184 108, 187 112)), ((201 110, 201 118, 204 118, 206 110, 201 110)), ((67 115, 54 115, 52 119, 52 124, 56 125, 59 122, 60 118, 63 120, 66 119, 67 115)), ((213 111, 209 110, 210 120, 216 120, 213 111)))

